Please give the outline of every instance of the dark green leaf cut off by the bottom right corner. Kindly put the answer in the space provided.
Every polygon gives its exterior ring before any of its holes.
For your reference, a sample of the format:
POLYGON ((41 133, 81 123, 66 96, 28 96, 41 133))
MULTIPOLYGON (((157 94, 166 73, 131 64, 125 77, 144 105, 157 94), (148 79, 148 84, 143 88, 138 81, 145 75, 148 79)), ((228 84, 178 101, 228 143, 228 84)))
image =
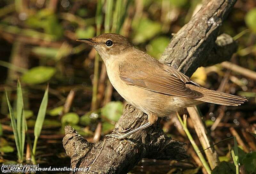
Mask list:
POLYGON ((252 173, 256 172, 256 152, 248 153, 243 159, 245 169, 252 173))

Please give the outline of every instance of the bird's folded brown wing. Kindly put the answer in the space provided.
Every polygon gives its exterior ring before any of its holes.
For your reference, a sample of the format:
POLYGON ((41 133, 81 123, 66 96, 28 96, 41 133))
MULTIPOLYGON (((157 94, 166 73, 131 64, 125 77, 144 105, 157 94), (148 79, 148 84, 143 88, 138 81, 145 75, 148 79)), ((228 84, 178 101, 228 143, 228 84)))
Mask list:
POLYGON ((186 86, 186 83, 198 85, 188 76, 164 64, 150 68, 140 66, 119 66, 120 79, 129 85, 141 87, 150 91, 180 97, 200 98, 203 95, 186 86))

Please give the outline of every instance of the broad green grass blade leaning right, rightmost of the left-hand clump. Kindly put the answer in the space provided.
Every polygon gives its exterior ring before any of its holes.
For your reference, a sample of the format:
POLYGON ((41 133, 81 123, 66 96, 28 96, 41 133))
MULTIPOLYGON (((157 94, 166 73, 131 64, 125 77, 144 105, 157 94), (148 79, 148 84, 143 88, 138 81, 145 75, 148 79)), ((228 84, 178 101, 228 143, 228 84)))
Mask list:
POLYGON ((35 123, 35 128, 34 128, 34 135, 35 135, 35 141, 33 145, 33 154, 36 155, 36 143, 37 139, 40 136, 43 124, 44 124, 44 117, 47 109, 47 104, 48 104, 48 90, 49 90, 49 85, 47 86, 45 92, 44 92, 44 97, 41 102, 37 117, 36 117, 36 123, 35 123))

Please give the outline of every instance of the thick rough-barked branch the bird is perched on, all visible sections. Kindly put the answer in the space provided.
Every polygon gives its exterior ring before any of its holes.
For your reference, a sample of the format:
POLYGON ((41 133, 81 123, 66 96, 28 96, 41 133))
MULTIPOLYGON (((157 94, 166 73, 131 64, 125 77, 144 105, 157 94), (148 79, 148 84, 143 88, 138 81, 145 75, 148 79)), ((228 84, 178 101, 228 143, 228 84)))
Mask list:
MULTIPOLYGON (((236 51, 236 43, 226 34, 222 35, 225 39, 221 39, 222 36, 216 38, 222 21, 235 2, 206 2, 188 24, 173 36, 160 61, 190 76, 200 66, 229 59, 236 51)), ((114 130, 126 132, 147 121, 146 114, 127 105, 114 130)), ((182 160, 187 157, 184 143, 167 137, 159 123, 133 134, 129 140, 134 145, 114 138, 89 143, 70 126, 65 127, 65 133, 63 146, 71 158, 71 167, 87 168, 86 171, 71 173, 127 173, 142 158, 182 160)))

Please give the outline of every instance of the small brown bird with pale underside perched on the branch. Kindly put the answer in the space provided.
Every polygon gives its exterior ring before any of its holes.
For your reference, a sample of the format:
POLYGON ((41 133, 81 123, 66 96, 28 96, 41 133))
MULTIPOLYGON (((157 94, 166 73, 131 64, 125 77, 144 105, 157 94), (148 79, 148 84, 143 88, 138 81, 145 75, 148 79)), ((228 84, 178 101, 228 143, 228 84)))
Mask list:
POLYGON ((147 124, 123 135, 111 135, 117 139, 149 127, 158 117, 167 117, 203 102, 238 106, 247 101, 244 97, 201 87, 185 74, 135 48, 122 35, 106 33, 77 41, 88 43, 98 51, 116 91, 148 115, 147 124))

